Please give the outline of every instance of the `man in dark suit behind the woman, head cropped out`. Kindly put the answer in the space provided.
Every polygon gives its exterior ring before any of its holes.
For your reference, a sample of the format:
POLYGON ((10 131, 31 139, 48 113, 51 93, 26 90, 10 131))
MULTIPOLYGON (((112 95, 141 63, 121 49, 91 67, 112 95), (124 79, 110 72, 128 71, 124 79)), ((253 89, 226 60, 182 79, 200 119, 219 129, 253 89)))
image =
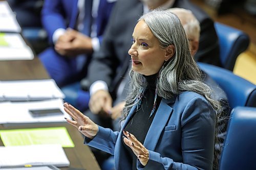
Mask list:
MULTIPOLYGON (((113 100, 116 99, 118 92, 122 91, 122 78, 129 68, 131 57, 127 52, 131 47, 133 29, 142 13, 157 7, 185 8, 195 13, 201 25, 196 59, 219 64, 219 44, 214 22, 200 8, 187 0, 158 0, 146 1, 146 3, 138 0, 119 0, 111 15, 101 48, 94 54, 89 66, 89 81, 92 84, 89 107, 94 114, 102 113, 105 117, 110 117, 113 100)), ((106 118, 101 123, 92 119, 99 125, 109 125, 106 118)))

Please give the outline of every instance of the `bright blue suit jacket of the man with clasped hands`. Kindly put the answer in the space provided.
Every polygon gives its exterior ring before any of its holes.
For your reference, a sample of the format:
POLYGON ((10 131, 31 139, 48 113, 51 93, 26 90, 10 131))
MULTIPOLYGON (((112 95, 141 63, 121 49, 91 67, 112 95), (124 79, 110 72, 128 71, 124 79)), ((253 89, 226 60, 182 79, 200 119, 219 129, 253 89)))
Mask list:
MULTIPOLYGON (((78 0, 45 0, 41 12, 41 21, 48 33, 50 43, 53 43, 52 35, 57 29, 67 29, 68 27, 72 29, 75 28, 78 15, 77 2, 78 0)), ((100 0, 98 16, 95 20, 97 25, 97 37, 100 42, 102 40, 101 36, 108 23, 112 7, 115 4, 114 2, 114 0, 100 0)))

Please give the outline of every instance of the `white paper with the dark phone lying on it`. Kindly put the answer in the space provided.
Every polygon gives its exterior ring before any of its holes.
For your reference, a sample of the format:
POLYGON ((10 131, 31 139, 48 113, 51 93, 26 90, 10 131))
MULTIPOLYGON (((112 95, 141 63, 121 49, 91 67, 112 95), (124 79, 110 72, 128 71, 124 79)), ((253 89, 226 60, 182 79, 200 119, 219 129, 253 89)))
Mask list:
POLYGON ((16 123, 48 123, 48 122, 66 122, 71 118, 63 108, 61 99, 37 101, 37 102, 2 102, 0 103, 0 124, 16 123), (60 109, 62 115, 50 115, 33 117, 29 110, 60 109))

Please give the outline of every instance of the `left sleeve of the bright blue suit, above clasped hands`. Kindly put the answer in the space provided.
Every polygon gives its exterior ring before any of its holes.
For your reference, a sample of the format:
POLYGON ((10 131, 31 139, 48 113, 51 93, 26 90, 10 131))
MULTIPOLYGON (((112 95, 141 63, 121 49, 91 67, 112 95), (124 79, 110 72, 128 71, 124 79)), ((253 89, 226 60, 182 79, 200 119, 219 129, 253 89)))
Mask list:
POLYGON ((41 11, 41 22, 42 26, 46 29, 50 43, 52 43, 53 33, 57 29, 67 28, 63 13, 62 3, 60 0, 45 0, 41 11))

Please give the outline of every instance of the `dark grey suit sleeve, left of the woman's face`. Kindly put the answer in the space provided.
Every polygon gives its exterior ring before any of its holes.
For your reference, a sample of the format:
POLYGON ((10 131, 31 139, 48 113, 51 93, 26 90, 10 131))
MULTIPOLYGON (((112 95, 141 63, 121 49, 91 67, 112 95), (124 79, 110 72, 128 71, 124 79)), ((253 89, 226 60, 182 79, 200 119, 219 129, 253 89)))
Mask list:
MULTIPOLYGON (((118 3, 118 2, 117 2, 118 3)), ((110 86, 112 79, 116 74, 116 68, 119 65, 119 59, 114 52, 114 27, 117 4, 111 13, 108 25, 104 31, 100 50, 93 54, 91 63, 88 68, 88 80, 90 85, 95 81, 102 80, 110 86)), ((100 40, 100 39, 99 39, 100 40)), ((101 40, 100 40, 101 41, 101 40)))

